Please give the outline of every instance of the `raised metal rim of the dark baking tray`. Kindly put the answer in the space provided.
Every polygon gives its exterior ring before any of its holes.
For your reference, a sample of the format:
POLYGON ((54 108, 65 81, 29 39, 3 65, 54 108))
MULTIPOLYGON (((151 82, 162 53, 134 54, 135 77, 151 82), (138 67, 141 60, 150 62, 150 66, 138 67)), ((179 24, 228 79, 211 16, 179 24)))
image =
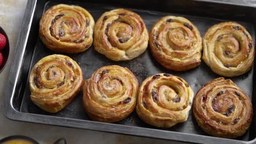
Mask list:
MULTIPOLYGON (((237 4, 220 2, 213 0, 192 0, 192 1, 202 1, 210 3, 225 3, 228 5, 242 5, 246 7, 253 7, 252 5, 237 4)), ((113 123, 103 123, 91 120, 79 120, 67 117, 55 117, 49 115, 39 115, 32 113, 24 113, 17 111, 12 104, 13 96, 16 91, 16 84, 18 81, 21 64, 24 60, 24 52, 27 46, 27 40, 29 37, 29 31, 32 24, 32 19, 34 17, 35 8, 37 0, 28 0, 27 6, 24 13, 24 18, 22 21, 21 30, 16 44, 16 51, 14 52, 14 59, 11 63, 11 70, 8 76, 8 82, 4 93, 4 103, 3 103, 3 115, 10 120, 31 122, 31 123, 41 123, 48 125, 57 125, 70 128, 80 128, 95 131, 105 131, 111 133, 128 134, 134 136, 145 136, 157 139, 167 139, 172 141, 182 141, 182 142, 193 142, 193 143, 225 143, 225 144, 254 144, 256 143, 256 138, 251 141, 235 140, 235 139, 224 139, 213 136, 203 136, 197 134, 181 133, 174 131, 165 131, 152 128, 136 127, 131 125, 120 125, 113 123), (29 117, 29 119, 27 119, 29 117), (61 121, 61 123, 59 123, 61 121), (204 139, 207 139, 205 141, 204 139)), ((255 7, 253 7, 255 8, 255 7)))

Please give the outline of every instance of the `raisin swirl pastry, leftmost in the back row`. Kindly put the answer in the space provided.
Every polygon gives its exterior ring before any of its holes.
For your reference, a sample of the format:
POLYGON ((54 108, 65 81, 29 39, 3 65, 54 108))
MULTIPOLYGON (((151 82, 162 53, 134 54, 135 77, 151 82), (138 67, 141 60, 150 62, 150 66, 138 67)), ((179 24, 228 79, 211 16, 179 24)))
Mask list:
POLYGON ((92 45, 93 28, 93 17, 84 8, 59 4, 43 14, 39 36, 53 51, 79 53, 92 45))

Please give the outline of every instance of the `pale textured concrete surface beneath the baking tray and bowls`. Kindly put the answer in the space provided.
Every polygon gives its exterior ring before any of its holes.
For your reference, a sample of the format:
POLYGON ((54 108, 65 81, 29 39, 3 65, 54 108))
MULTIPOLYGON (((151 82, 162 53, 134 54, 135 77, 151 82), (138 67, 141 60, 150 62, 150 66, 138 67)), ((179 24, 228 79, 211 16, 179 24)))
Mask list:
POLYGON ((61 137, 67 139, 69 144, 167 144, 169 141, 150 139, 137 136, 126 136, 99 131, 88 131, 75 128, 64 128, 52 125, 41 125, 8 120, 3 116, 3 94, 5 83, 13 60, 17 39, 27 0, 0 0, 0 27, 5 29, 10 43, 11 55, 8 65, 0 74, 0 139, 11 135, 25 135, 39 141, 41 144, 52 144, 61 137))

